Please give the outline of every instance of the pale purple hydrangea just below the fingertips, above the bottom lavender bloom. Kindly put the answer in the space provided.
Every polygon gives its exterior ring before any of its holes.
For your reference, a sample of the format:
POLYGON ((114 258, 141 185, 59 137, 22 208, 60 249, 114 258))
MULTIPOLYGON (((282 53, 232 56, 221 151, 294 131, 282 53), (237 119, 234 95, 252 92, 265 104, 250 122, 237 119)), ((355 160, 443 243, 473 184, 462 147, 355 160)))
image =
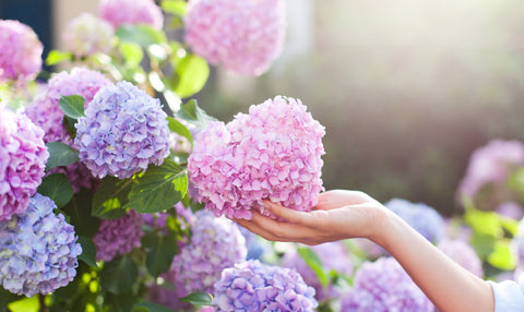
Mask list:
POLYGON ((186 295, 212 291, 222 269, 246 260, 246 240, 237 226, 224 217, 199 211, 191 227, 191 242, 175 255, 168 277, 183 285, 186 295))

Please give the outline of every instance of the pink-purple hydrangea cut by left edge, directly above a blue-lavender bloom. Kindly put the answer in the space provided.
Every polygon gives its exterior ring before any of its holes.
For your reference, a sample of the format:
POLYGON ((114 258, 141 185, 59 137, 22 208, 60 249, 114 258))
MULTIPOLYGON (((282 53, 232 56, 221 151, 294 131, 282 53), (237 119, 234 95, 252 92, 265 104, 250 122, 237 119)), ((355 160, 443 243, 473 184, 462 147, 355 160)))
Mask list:
POLYGON ((26 116, 0 107, 0 223, 25 211, 49 157, 44 131, 26 116))

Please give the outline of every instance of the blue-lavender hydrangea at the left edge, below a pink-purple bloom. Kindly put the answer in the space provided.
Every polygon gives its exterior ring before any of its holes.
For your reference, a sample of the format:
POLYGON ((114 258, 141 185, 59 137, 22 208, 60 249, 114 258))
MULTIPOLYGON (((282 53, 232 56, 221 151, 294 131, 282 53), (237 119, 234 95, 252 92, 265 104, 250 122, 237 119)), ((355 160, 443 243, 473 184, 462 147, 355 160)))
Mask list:
POLYGON ((68 285, 76 275, 74 229, 46 196, 35 194, 27 209, 0 223, 0 285, 13 293, 32 297, 68 285))

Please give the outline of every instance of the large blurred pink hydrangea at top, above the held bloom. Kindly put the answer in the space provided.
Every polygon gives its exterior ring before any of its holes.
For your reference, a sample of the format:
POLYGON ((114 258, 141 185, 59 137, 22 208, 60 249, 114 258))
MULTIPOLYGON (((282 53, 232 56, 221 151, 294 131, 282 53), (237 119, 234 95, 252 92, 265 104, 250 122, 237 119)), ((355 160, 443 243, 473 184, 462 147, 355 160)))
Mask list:
POLYGON ((260 75, 282 52, 285 15, 283 0, 191 0, 184 16, 186 41, 212 64, 240 75, 260 75))

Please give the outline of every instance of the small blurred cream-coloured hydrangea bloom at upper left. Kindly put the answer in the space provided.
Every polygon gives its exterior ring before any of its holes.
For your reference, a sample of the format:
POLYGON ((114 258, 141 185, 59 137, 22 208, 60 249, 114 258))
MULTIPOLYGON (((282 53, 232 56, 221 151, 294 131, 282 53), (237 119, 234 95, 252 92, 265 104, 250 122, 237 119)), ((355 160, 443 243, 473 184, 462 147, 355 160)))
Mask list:
POLYGON ((69 22, 63 33, 63 44, 76 58, 91 57, 109 52, 115 43, 114 36, 111 24, 84 12, 69 22))

